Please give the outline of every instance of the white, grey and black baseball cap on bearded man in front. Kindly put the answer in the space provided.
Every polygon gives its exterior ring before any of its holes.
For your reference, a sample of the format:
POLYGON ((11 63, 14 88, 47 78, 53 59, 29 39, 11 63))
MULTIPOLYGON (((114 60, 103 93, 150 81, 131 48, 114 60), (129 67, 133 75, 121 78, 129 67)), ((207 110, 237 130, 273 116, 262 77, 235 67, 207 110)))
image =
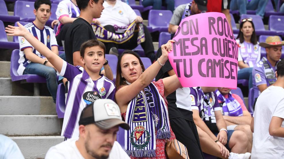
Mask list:
POLYGON ((118 105, 111 99, 98 99, 87 105, 80 116, 79 125, 95 124, 103 130, 119 125, 129 130, 129 125, 122 120, 118 105))

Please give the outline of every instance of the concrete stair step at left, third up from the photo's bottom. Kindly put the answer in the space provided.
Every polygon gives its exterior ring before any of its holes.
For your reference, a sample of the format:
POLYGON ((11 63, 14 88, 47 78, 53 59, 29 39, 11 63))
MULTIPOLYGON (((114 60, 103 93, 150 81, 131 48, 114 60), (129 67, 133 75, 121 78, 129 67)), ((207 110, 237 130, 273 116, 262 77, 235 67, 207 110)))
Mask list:
POLYGON ((51 96, 0 96, 0 115, 57 115, 51 96))

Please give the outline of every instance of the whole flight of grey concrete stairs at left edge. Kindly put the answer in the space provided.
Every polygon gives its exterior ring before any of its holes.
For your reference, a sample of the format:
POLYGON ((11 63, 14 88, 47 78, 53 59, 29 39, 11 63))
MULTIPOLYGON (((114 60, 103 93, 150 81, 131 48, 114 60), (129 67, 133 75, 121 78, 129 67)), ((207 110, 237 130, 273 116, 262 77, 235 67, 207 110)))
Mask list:
POLYGON ((0 134, 13 139, 25 158, 44 158, 64 140, 52 97, 33 96, 33 84, 12 82, 10 61, 0 61, 0 110, 0 134))

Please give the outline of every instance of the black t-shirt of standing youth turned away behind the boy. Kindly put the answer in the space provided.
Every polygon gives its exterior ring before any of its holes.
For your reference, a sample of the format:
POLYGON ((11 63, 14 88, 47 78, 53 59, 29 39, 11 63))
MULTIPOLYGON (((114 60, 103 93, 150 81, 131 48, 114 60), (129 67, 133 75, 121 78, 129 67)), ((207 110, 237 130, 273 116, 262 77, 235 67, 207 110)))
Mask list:
POLYGON ((65 35, 64 50, 66 60, 73 64, 73 53, 80 50, 82 43, 90 39, 97 39, 94 30, 85 19, 77 18, 70 25, 65 35))

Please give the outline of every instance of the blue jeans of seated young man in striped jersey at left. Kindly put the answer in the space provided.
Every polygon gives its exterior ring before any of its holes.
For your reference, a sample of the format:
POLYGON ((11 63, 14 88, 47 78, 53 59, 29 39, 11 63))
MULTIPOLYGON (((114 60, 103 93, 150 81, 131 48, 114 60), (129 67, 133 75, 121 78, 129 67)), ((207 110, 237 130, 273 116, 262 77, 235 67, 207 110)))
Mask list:
POLYGON ((47 89, 50 92, 53 102, 56 102, 57 80, 56 72, 52 67, 48 67, 39 63, 29 63, 23 72, 23 75, 40 75, 46 78, 47 89))

